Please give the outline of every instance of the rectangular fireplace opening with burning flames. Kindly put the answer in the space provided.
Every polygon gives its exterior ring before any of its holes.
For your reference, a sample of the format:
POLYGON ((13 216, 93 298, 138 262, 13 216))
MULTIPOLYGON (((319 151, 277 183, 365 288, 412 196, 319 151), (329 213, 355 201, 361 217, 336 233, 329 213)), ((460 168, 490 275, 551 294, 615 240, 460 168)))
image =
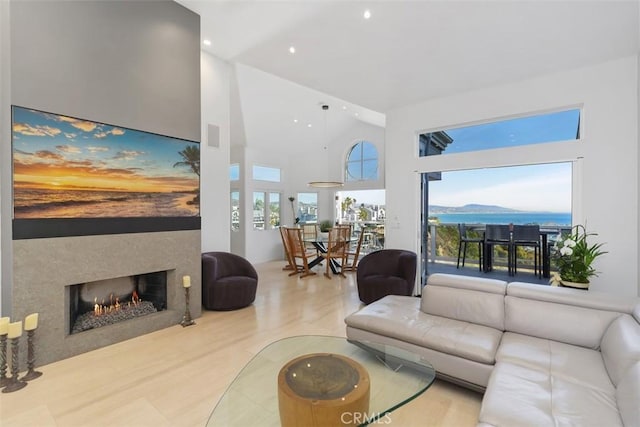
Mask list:
POLYGON ((69 286, 69 333, 166 309, 166 271, 79 283, 69 286))

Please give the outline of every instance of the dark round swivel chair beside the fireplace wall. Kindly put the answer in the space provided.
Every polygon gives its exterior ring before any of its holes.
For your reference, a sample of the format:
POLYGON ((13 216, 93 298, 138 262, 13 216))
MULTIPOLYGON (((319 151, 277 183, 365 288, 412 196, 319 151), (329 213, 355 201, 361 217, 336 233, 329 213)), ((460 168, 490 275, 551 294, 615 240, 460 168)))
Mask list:
POLYGON ((249 261, 229 252, 202 254, 202 305, 235 310, 256 299, 258 273, 249 261))

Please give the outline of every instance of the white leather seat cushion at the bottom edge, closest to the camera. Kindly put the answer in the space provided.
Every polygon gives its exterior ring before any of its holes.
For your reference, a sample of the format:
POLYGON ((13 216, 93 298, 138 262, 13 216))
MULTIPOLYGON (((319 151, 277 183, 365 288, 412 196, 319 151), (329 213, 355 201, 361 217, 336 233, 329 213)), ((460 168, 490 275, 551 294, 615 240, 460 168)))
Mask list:
POLYGON ((498 362, 493 369, 479 418, 495 426, 622 426, 615 389, 604 391, 510 362, 498 362))

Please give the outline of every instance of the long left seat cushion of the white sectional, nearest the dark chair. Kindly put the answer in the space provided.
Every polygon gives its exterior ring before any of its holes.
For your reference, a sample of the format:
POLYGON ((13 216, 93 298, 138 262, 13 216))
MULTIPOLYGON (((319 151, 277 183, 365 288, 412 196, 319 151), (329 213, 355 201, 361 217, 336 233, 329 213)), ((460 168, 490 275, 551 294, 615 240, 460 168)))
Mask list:
POLYGON ((348 326, 480 363, 493 364, 502 332, 423 313, 420 300, 389 295, 349 315, 348 326))

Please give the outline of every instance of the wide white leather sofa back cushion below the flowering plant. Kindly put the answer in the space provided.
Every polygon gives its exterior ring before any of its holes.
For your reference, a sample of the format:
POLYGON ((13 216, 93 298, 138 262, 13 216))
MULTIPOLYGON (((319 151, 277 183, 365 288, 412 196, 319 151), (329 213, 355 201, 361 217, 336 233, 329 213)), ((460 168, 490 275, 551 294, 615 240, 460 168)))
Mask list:
POLYGON ((605 331, 633 303, 608 294, 512 282, 505 330, 598 349, 605 331))

